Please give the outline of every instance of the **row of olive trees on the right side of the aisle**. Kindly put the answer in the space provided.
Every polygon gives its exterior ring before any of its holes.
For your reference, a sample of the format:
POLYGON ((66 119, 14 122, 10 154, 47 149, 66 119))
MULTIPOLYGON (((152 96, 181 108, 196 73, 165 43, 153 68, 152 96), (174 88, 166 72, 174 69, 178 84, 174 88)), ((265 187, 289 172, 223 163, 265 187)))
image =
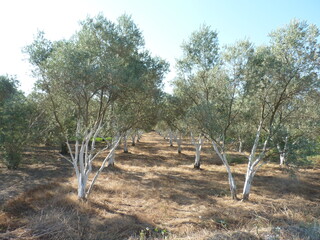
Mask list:
POLYGON ((167 97, 166 126, 200 134, 195 168, 201 136, 211 141, 234 199, 236 182, 226 152, 235 142, 239 151, 245 146, 249 152, 243 200, 273 146, 281 164, 319 147, 319 29, 293 20, 269 37, 265 46, 245 40, 220 49, 217 33, 202 26, 182 45, 174 94, 167 97))

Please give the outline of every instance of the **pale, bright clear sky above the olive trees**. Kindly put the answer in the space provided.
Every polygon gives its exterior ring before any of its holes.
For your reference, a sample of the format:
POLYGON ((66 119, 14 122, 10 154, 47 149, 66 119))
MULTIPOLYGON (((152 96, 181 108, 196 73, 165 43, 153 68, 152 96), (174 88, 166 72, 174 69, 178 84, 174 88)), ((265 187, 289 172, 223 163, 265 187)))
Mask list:
POLYGON ((242 39, 268 44, 268 34, 294 18, 320 27, 320 0, 0 0, 0 75, 16 76, 30 93, 36 80, 23 47, 38 30, 51 41, 68 39, 79 21, 99 13, 112 21, 131 15, 146 48, 170 63, 168 92, 181 44, 203 24, 218 32, 220 46, 242 39))

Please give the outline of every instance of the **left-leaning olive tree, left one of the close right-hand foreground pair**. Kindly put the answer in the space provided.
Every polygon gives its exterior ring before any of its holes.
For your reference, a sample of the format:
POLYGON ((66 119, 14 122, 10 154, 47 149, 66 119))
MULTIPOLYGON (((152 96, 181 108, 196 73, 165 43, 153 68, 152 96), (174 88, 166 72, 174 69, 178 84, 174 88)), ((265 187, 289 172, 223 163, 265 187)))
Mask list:
MULTIPOLYGON (((228 173, 232 198, 237 197, 236 184, 227 156, 227 133, 234 118, 238 79, 228 76, 222 66, 217 33, 207 26, 194 32, 182 45, 178 60, 175 94, 188 103, 189 122, 207 136, 228 173)), ((202 141, 199 140, 198 145, 202 141)))

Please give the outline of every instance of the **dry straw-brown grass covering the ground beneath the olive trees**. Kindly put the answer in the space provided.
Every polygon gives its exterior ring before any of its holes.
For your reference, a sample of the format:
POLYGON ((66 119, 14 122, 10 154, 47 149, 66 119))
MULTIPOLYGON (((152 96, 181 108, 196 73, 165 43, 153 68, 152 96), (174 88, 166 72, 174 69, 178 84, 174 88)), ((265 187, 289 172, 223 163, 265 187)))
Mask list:
MULTIPOLYGON (((19 170, 0 168, 0 239, 320 239, 320 169, 292 176, 267 164, 240 202, 208 144, 201 171, 191 145, 178 154, 156 133, 129 151, 117 150, 87 202, 53 149, 26 153, 32 163, 19 170)), ((245 170, 233 166, 239 192, 245 170)))

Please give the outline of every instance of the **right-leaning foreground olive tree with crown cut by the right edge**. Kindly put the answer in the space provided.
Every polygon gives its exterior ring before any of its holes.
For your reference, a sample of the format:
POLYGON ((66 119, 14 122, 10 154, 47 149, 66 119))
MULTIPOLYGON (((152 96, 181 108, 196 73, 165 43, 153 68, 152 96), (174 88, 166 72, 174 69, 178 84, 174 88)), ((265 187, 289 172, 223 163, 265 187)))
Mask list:
MULTIPOLYGON (((320 45, 315 25, 293 20, 270 34, 270 46, 260 47, 250 62, 246 88, 255 113, 256 137, 248 158, 243 200, 249 198, 253 177, 262 166, 267 146, 279 130, 281 108, 305 98, 319 86, 320 45), (262 134, 263 133, 263 134, 262 134), (259 143, 262 145, 259 147, 259 143), (260 148, 257 153, 258 147, 260 148)), ((293 114, 294 109, 288 112, 293 114)))

